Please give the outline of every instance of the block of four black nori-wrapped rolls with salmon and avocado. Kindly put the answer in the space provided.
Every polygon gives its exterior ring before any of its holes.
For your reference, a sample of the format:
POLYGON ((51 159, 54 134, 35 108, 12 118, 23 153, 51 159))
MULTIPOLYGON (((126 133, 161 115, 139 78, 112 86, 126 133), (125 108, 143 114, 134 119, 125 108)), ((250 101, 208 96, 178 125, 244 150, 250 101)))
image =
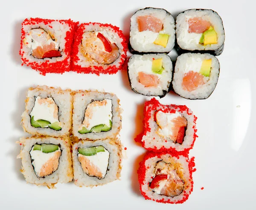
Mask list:
POLYGON ((220 65, 214 55, 223 51, 224 39, 221 17, 210 9, 181 12, 176 25, 164 9, 138 10, 131 17, 129 49, 137 54, 128 61, 131 89, 160 98, 171 89, 183 98, 208 98, 218 82, 220 65), (173 69, 165 53, 175 43, 181 55, 173 69))

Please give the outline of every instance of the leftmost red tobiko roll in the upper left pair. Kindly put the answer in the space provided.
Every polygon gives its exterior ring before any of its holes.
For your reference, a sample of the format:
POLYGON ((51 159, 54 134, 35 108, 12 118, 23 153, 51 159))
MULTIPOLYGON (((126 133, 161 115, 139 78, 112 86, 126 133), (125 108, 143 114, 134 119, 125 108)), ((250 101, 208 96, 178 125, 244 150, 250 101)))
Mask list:
POLYGON ((77 25, 78 22, 72 20, 25 19, 20 41, 23 64, 42 75, 69 71, 71 45, 77 25))

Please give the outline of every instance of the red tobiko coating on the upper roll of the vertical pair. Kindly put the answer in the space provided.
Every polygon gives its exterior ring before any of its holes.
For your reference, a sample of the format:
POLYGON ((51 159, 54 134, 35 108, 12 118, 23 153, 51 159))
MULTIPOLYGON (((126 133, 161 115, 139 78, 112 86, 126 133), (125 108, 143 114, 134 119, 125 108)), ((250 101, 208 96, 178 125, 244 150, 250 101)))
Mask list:
MULTIPOLYGON (((143 124, 144 124, 144 131, 143 131, 143 135, 146 135, 147 132, 150 132, 151 129, 149 127, 149 119, 151 118, 151 110, 156 109, 158 106, 161 106, 161 111, 162 112, 169 112, 169 113, 175 113, 175 109, 179 109, 179 111, 181 112, 187 112, 188 115, 192 115, 191 112, 189 112, 189 108, 185 105, 175 105, 175 104, 171 104, 170 106, 168 105, 163 105, 160 104, 159 101, 157 101, 156 98, 152 98, 150 101, 146 101, 145 105, 144 105, 144 119, 143 119, 143 124), (149 106, 151 105, 151 106, 149 106), (172 107, 172 108, 171 108, 172 107)), ((197 117, 194 115, 194 122, 196 122, 197 117)), ((151 148, 145 148, 145 142, 142 141, 143 135, 138 135, 134 140, 135 141, 141 141, 142 142, 142 146, 149 151, 153 151, 153 152, 169 152, 172 154, 177 154, 177 155, 186 155, 189 153, 189 150, 191 150, 194 146, 195 143, 195 139, 198 137, 198 135, 196 135, 197 129, 195 126, 192 127, 194 129, 194 135, 193 135, 193 142, 191 144, 191 147, 189 148, 185 148, 182 151, 177 151, 175 148, 165 148, 165 147, 161 147, 160 149, 157 149, 157 147, 151 147, 151 148)))

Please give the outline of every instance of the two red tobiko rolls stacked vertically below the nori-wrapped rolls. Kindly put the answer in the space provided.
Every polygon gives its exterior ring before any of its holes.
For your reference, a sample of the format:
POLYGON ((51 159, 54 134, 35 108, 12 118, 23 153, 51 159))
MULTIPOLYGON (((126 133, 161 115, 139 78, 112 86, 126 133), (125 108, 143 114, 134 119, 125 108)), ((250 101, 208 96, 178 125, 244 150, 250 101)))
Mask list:
POLYGON ((185 105, 163 105, 155 98, 144 105, 144 131, 135 141, 149 150, 137 171, 145 199, 178 204, 193 190, 194 158, 189 159, 197 117, 185 105))

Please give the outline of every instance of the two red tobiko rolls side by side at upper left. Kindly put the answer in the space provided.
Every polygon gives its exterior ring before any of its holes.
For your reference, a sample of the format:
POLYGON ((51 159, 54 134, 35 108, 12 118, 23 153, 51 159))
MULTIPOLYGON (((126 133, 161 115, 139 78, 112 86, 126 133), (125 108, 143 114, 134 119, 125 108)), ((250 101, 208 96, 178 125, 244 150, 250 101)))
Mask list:
POLYGON ((20 55, 23 64, 46 73, 76 71, 114 74, 126 58, 127 44, 118 27, 72 20, 25 19, 20 55))

